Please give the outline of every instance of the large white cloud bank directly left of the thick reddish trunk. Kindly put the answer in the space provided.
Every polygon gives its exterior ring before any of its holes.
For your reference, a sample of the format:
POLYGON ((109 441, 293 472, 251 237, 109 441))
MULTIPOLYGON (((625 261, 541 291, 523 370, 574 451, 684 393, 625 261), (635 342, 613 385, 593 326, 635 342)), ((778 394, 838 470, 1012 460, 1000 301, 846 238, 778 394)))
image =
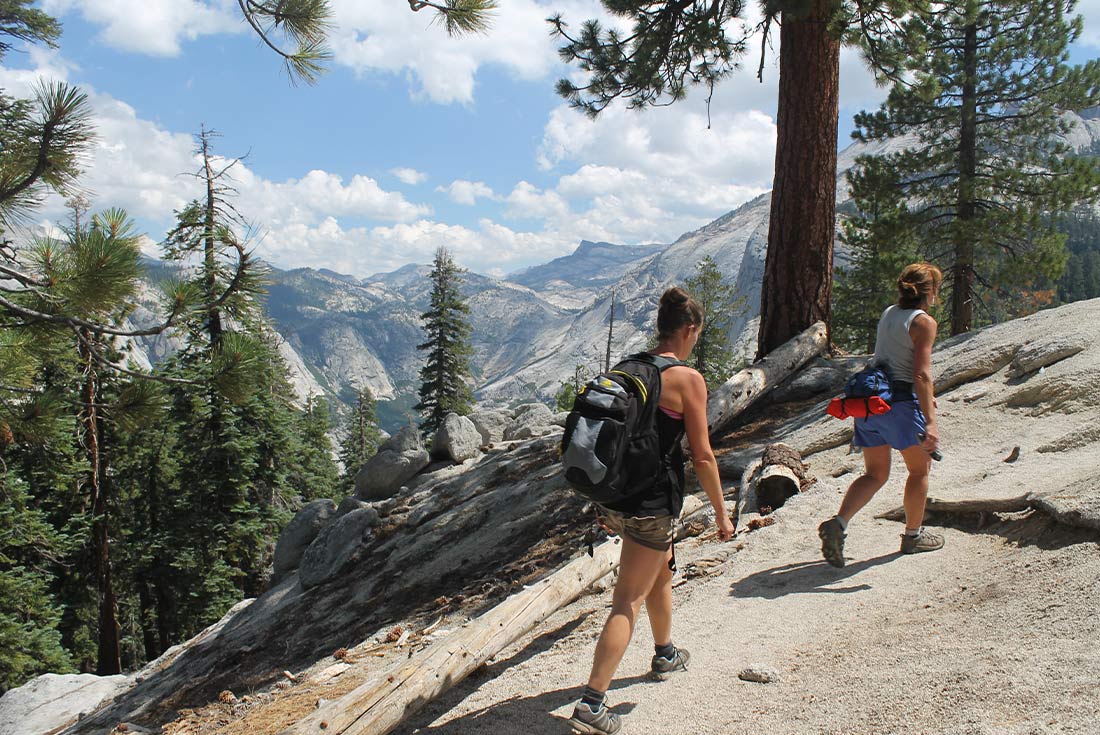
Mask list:
MULTIPOLYGON (((560 172, 553 194, 579 213, 557 227, 612 242, 671 242, 770 188, 772 119, 712 112, 692 99, 596 120, 561 106, 544 129, 540 166, 560 172)), ((560 213, 558 219, 564 219, 560 213)))

